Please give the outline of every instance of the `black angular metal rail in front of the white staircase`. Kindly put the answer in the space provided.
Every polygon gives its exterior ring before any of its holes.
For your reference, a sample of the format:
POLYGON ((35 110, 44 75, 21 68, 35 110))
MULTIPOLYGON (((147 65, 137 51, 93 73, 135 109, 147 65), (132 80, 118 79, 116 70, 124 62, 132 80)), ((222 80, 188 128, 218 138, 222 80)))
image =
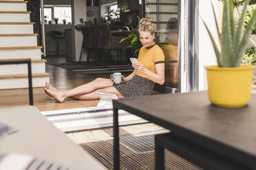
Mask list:
POLYGON ((33 88, 32 88, 32 71, 31 71, 31 60, 20 60, 20 61, 14 61, 14 60, 6 60, 6 61, 0 61, 0 65, 3 64, 28 64, 28 93, 30 97, 30 105, 33 106, 33 88))

